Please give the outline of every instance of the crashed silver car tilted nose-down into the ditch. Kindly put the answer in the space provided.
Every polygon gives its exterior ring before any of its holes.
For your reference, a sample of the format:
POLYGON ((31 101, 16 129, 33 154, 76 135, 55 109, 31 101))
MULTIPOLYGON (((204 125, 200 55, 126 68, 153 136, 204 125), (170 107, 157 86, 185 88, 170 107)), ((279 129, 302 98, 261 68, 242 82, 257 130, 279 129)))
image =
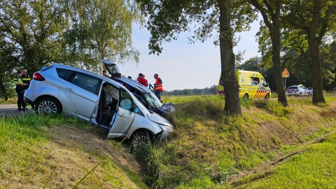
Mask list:
POLYGON ((52 64, 37 71, 25 98, 37 113, 78 116, 105 128, 106 138, 126 137, 134 146, 166 139, 174 130, 120 83, 73 66, 52 64))

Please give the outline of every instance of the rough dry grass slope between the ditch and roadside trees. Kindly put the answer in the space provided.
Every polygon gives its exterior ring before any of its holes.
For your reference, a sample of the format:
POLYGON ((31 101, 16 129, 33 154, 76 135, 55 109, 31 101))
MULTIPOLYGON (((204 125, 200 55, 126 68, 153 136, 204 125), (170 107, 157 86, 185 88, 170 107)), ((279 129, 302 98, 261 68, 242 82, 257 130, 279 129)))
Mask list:
POLYGON ((235 174, 300 151, 336 126, 335 102, 314 106, 311 99, 290 98, 291 106, 283 107, 276 100, 241 99, 243 116, 227 117, 216 96, 167 100, 185 102, 169 116, 176 133, 141 155, 151 188, 234 187, 228 181, 235 174))

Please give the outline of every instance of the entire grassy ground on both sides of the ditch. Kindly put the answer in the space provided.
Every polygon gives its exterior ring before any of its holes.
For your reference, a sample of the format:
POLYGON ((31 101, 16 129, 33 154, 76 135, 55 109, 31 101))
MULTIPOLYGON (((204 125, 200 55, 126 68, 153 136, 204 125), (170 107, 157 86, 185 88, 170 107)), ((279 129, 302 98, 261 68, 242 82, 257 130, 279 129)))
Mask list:
POLYGON ((169 140, 131 153, 125 141, 67 116, 1 118, 1 188, 334 188, 336 97, 241 100, 163 97, 169 140))

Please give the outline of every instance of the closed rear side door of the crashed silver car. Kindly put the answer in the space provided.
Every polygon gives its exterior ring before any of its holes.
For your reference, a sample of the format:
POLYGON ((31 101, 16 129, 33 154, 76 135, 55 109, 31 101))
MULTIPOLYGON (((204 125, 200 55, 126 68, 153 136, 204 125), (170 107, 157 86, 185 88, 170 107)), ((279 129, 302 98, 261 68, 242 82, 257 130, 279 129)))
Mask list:
POLYGON ((63 99, 64 112, 90 120, 98 100, 99 83, 99 78, 74 72, 59 90, 58 96, 63 99))

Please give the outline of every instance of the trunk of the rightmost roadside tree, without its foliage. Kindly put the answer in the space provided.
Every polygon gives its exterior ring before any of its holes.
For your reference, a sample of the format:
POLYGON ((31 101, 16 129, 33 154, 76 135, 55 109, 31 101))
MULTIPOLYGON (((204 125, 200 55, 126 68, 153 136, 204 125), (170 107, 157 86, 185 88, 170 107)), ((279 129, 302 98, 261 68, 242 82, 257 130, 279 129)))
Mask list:
POLYGON ((324 103, 322 66, 320 59, 320 48, 316 42, 315 32, 308 32, 308 44, 311 57, 311 78, 313 84, 313 104, 324 103))

